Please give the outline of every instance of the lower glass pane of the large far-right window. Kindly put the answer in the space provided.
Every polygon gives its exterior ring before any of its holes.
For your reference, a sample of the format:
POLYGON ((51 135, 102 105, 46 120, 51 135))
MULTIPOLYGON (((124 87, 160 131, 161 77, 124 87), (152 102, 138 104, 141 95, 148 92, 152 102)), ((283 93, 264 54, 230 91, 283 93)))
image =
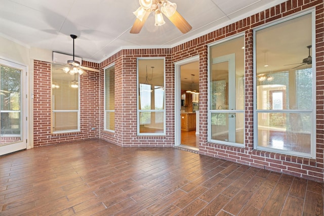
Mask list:
POLYGON ((258 146, 310 154, 311 113, 258 113, 258 146))

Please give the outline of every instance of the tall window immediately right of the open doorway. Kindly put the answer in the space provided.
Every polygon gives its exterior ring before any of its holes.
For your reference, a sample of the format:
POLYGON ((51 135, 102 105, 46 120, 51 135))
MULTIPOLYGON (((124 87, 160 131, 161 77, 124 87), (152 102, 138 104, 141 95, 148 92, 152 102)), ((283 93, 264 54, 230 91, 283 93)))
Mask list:
POLYGON ((244 145, 244 36, 209 48, 209 141, 244 145))

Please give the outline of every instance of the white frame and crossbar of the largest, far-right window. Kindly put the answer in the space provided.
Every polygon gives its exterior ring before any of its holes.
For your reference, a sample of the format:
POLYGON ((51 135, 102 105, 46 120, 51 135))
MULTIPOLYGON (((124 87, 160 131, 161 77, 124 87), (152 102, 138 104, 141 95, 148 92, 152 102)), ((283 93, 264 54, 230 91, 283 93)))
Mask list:
POLYGON ((256 87, 256 83, 257 83, 257 68, 256 68, 256 32, 258 30, 267 28, 267 27, 271 27, 274 26, 276 24, 282 23, 282 22, 286 22, 289 20, 292 20, 294 18, 298 18, 301 17, 303 15, 307 15, 307 14, 311 14, 312 17, 312 53, 311 56, 312 58, 312 108, 311 110, 258 110, 257 109, 257 103, 254 103, 254 123, 253 123, 253 127, 254 127, 254 149, 257 150, 263 150, 263 151, 268 151, 268 152, 276 152, 276 153, 282 153, 282 154, 287 154, 287 155, 294 155, 294 156, 301 156, 301 157, 308 157, 308 158, 316 158, 316 61, 315 61, 315 10, 314 9, 310 9, 307 11, 303 11, 301 13, 297 13, 293 16, 289 16, 265 25, 262 25, 258 28, 253 29, 253 83, 254 83, 254 89, 253 89, 253 100, 254 102, 257 101, 257 87, 256 87), (312 121, 312 125, 311 125, 311 135, 310 135, 310 154, 306 154, 306 153, 302 153, 302 152, 295 152, 295 151, 288 151, 288 150, 280 150, 280 149, 275 149, 275 148, 270 148, 270 147, 262 147, 262 146, 258 146, 258 113, 309 113, 311 112, 311 121, 312 121))

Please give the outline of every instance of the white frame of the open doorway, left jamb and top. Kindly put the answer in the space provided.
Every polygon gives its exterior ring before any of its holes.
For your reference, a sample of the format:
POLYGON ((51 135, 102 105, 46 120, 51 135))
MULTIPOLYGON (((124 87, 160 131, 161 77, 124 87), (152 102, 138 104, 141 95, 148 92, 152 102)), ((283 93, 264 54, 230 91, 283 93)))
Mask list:
MULTIPOLYGON (((180 66, 199 61, 199 55, 193 56, 174 63, 175 70, 175 101, 174 101, 174 115, 175 115, 175 146, 181 145, 181 76, 180 66)), ((199 80, 199 79, 198 79, 199 80)), ((198 82, 199 83, 199 82, 198 82)))

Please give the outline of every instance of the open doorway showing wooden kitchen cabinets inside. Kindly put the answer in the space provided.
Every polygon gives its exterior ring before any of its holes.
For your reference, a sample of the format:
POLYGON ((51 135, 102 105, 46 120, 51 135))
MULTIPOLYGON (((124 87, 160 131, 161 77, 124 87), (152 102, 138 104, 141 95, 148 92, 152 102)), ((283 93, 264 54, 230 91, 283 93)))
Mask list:
POLYGON ((175 146, 199 148, 199 56, 175 63, 175 146))

